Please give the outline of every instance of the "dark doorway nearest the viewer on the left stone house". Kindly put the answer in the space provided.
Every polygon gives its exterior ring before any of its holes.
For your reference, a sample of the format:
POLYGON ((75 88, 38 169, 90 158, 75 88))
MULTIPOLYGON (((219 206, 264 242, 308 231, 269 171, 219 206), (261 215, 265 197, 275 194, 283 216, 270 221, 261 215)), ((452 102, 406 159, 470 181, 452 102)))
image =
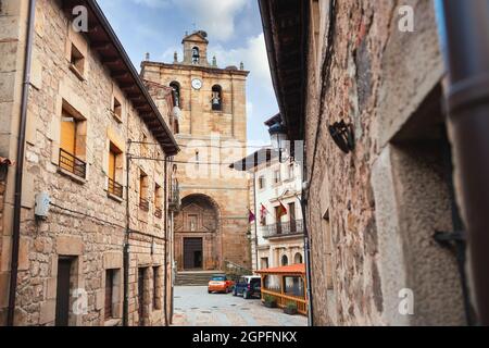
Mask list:
POLYGON ((57 311, 55 325, 70 324, 70 279, 72 275, 72 259, 58 261, 57 311))

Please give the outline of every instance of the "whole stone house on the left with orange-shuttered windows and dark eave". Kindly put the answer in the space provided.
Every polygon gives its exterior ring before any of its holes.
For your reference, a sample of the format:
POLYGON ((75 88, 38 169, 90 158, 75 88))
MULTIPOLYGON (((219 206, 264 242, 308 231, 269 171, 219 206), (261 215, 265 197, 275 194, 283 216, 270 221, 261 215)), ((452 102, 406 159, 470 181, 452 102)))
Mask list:
POLYGON ((160 112, 96 1, 0 9, 0 323, 170 322, 173 97, 160 112))

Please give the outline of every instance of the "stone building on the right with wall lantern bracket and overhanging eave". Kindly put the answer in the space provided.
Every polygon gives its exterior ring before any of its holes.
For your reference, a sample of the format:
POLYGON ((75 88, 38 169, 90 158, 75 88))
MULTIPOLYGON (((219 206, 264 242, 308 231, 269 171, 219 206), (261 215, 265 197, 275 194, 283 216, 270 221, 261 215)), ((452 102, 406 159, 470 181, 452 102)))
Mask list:
POLYGON ((463 223, 434 1, 260 7, 288 136, 305 141, 314 324, 474 323, 463 248, 439 243, 463 223))

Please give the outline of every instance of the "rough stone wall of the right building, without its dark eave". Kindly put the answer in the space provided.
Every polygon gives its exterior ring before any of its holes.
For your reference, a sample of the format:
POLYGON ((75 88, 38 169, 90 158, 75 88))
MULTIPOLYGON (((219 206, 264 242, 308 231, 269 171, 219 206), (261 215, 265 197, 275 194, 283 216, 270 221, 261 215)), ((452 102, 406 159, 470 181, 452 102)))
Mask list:
POLYGON ((443 76, 432 2, 336 1, 330 36, 328 2, 319 1, 318 40, 310 37, 308 53, 305 141, 315 324, 463 324, 454 256, 432 240, 438 219, 447 219, 446 184, 429 186, 431 174, 416 174, 432 165, 429 162, 399 160, 374 171, 386 164, 384 152, 443 76), (414 33, 398 29, 398 9, 404 4, 415 11, 414 33), (354 126, 356 147, 350 154, 342 153, 328 133, 327 126, 340 120, 354 126), (435 192, 430 199, 439 204, 431 201, 426 210, 441 207, 428 212, 428 219, 410 212, 416 200, 404 190, 419 181, 427 181, 426 191, 435 192), (390 201, 383 199, 386 190, 390 201), (419 223, 424 228, 413 228, 419 223), (412 234, 416 243, 393 237, 398 231, 412 234), (428 270, 419 270, 421 263, 428 270), (430 276, 423 281, 426 274, 430 276), (397 312, 403 288, 414 291, 414 315, 397 312), (450 298, 450 309, 428 300, 440 294, 450 298), (428 302, 432 306, 423 308, 428 302))

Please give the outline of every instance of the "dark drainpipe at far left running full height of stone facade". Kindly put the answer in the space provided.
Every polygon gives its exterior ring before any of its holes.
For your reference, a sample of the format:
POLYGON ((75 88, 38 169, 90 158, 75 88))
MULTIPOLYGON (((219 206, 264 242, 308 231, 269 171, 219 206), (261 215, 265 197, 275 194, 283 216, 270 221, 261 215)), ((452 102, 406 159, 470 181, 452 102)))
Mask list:
POLYGON ((9 310, 7 316, 8 326, 14 325, 15 297, 17 293, 18 249, 21 244, 22 179, 24 175, 25 129, 27 124, 27 101, 29 97, 29 85, 30 85, 30 64, 33 57, 35 14, 36 14, 36 0, 30 0, 28 22, 27 22, 27 40, 25 45, 25 57, 24 57, 24 82, 22 87, 21 120, 18 126, 17 160, 15 169, 12 259, 10 270, 9 310))

